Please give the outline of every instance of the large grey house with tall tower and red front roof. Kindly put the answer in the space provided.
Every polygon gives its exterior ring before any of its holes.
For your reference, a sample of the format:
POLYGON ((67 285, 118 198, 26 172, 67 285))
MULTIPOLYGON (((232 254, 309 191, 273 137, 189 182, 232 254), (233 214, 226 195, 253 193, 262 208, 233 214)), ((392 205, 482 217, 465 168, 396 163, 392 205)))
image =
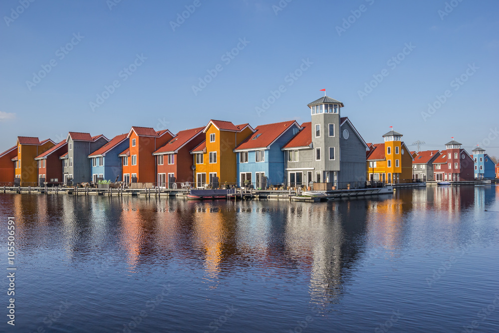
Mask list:
POLYGON ((301 124, 302 130, 282 147, 287 185, 364 187, 368 146, 351 121, 341 117, 343 103, 324 96, 307 106, 312 121, 301 124))

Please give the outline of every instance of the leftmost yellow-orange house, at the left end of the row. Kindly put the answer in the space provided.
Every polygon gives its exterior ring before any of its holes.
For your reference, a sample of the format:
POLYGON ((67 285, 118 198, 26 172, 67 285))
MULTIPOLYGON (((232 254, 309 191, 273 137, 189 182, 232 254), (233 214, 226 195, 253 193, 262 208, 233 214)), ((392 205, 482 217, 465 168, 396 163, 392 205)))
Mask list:
POLYGON ((38 162, 35 158, 55 145, 50 139, 40 142, 38 138, 17 137, 17 157, 15 162, 15 185, 36 186, 38 184, 38 162))

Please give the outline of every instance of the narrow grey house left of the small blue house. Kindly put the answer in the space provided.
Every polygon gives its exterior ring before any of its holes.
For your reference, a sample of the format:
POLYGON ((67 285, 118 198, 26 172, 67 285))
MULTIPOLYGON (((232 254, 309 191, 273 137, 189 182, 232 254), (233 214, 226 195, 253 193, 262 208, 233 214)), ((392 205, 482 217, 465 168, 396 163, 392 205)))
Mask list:
POLYGON ((90 136, 89 133, 69 132, 66 138, 67 153, 63 161, 64 184, 76 185, 92 181, 88 155, 104 146, 109 140, 104 135, 90 136))

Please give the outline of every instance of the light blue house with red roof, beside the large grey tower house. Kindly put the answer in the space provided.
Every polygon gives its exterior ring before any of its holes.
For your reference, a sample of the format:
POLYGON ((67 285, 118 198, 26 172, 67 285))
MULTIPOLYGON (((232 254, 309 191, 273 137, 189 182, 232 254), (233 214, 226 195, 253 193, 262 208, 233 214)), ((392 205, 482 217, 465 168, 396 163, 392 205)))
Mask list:
POLYGON ((295 120, 260 125, 234 149, 237 154, 238 185, 266 188, 285 182, 282 146, 301 127, 295 120))

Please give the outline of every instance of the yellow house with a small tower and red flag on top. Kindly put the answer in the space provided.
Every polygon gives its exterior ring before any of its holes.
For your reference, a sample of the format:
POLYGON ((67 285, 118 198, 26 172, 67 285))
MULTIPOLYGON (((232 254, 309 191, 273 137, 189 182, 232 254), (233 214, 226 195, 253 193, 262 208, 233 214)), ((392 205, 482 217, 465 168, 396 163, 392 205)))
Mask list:
POLYGON ((412 182, 414 157, 401 137, 392 130, 383 135, 384 143, 369 144, 367 179, 388 184, 412 182))

